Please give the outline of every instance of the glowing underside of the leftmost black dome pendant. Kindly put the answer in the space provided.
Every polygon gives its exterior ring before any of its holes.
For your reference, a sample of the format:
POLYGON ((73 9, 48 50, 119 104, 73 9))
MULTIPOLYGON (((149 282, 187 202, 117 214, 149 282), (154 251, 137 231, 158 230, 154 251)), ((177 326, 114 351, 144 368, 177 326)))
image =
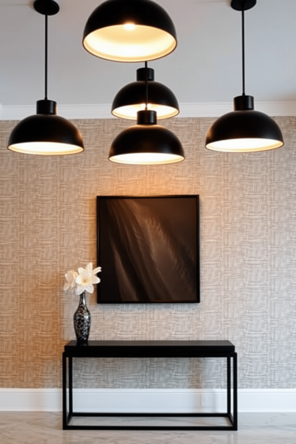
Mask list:
POLYGON ((42 156, 55 156, 63 154, 78 154, 83 151, 82 147, 70 143, 56 142, 25 142, 10 145, 8 150, 24 154, 36 154, 42 156))

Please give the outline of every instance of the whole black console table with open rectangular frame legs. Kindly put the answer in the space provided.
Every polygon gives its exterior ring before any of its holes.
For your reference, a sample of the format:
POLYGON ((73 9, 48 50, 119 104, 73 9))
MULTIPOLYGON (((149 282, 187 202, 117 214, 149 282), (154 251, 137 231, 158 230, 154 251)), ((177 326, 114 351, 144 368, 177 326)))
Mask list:
POLYGON ((100 430, 237 430, 237 353, 229 341, 88 341, 78 345, 70 341, 63 352, 63 429, 100 430), (227 411, 224 413, 84 413, 73 412, 73 358, 117 357, 225 357, 227 360, 227 411), (233 365, 231 371, 231 358, 233 365), (67 366, 68 360, 68 366, 67 366), (67 399, 68 367, 68 399, 67 399), (231 373, 233 377, 231 378, 231 373), (232 381, 231 381, 232 380, 232 381), (231 382, 233 390, 231 390, 231 382), (233 402, 231 402, 233 401, 233 402), (233 404, 233 409, 231 408, 233 404), (233 410, 233 412, 231 412, 233 410), (122 417, 224 417, 229 425, 75 425, 75 416, 122 417))

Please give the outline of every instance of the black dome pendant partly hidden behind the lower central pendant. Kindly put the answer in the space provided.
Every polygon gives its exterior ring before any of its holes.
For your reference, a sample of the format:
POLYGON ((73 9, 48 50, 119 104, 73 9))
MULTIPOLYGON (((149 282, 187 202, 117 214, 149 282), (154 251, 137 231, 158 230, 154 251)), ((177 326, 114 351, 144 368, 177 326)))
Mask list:
MULTIPOLYGON (((154 81, 154 69, 148 68, 148 105, 149 110, 157 112, 158 119, 167 119, 179 114, 179 105, 173 92, 154 81)), ((124 86, 112 103, 112 114, 122 119, 137 119, 137 112, 145 109, 146 68, 137 69, 137 81, 124 86)))

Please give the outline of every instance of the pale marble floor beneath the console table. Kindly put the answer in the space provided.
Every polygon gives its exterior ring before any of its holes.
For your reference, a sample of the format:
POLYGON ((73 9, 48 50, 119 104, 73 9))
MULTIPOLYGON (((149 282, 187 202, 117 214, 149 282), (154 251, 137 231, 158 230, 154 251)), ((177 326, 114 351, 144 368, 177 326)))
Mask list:
POLYGON ((237 432, 62 430, 61 413, 0 412, 1 444, 296 444, 296 413, 241 413, 237 432))

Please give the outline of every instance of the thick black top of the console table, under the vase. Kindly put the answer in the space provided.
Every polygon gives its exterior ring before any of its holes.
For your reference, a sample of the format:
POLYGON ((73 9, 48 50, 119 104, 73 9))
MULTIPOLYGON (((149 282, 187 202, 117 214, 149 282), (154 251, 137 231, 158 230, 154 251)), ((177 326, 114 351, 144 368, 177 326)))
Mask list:
POLYGON ((215 357, 230 356, 230 341, 70 341, 64 348, 72 357, 215 357))

